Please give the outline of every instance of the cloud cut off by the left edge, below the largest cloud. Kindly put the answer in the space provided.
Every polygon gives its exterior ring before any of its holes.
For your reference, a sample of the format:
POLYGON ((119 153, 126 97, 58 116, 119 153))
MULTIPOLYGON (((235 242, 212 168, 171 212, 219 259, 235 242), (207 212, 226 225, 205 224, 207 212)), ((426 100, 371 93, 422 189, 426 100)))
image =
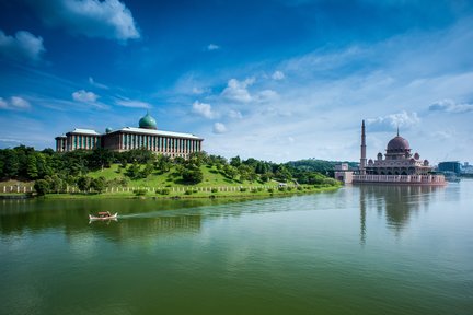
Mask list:
POLYGON ((26 31, 19 31, 9 36, 0 30, 0 55, 10 59, 38 61, 46 49, 43 38, 26 31))

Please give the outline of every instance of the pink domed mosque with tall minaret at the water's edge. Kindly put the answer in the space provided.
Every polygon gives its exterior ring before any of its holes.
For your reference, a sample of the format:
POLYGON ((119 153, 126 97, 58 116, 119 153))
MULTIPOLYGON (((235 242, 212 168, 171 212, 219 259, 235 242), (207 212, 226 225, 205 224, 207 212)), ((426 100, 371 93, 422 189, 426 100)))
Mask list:
POLYGON ((412 185, 445 185, 443 175, 432 174, 428 160, 422 160, 418 153, 412 154, 406 139, 397 135, 388 142, 385 154, 380 152, 376 160, 366 158, 365 120, 361 122, 361 156, 356 173, 336 170, 335 176, 345 183, 384 183, 412 185))

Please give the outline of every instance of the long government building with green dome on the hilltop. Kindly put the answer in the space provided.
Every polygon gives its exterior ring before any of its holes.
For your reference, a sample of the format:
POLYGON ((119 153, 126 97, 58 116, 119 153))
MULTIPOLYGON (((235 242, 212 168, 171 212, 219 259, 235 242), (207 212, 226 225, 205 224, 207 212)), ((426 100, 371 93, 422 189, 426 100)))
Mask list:
POLYGON ((104 148, 124 152, 134 149, 147 149, 171 158, 187 158, 189 153, 203 150, 204 139, 192 135, 158 130, 153 117, 147 113, 136 127, 124 127, 119 130, 105 129, 100 133, 92 129, 76 128, 56 137, 56 151, 93 150, 104 148))

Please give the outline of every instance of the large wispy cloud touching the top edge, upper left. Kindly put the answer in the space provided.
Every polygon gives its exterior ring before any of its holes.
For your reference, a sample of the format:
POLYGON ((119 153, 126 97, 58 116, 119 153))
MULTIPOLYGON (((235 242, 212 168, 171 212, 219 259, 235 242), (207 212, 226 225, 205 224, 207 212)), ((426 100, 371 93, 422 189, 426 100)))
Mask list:
POLYGON ((130 10, 118 0, 36 0, 30 1, 50 26, 72 34, 126 42, 140 37, 130 10))

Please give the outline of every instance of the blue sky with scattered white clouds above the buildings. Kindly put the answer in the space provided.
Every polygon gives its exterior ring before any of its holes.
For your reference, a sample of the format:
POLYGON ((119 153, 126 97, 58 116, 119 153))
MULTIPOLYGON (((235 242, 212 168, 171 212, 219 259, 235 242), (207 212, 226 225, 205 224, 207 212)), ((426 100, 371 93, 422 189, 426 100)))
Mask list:
POLYGON ((473 162, 468 0, 0 0, 0 148, 90 128, 210 154, 359 161, 396 135, 473 162))

